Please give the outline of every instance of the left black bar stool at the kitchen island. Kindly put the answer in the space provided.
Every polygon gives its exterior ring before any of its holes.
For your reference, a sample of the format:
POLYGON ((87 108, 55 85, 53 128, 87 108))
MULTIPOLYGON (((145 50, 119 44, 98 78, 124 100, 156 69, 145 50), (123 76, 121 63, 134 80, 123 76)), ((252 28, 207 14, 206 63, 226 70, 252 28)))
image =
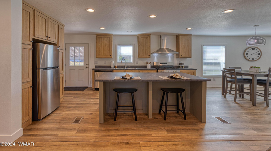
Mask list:
POLYGON ((136 118, 136 104, 135 104, 135 98, 134 98, 134 92, 137 92, 136 88, 114 88, 113 89, 115 92, 117 92, 117 101, 116 101, 116 109, 115 109, 115 118, 114 121, 117 119, 117 112, 133 112, 135 114, 135 119, 136 118), (132 95, 132 106, 127 106, 127 105, 119 105, 119 97, 120 93, 131 93, 132 95), (118 111, 118 107, 133 107, 133 111, 118 111))

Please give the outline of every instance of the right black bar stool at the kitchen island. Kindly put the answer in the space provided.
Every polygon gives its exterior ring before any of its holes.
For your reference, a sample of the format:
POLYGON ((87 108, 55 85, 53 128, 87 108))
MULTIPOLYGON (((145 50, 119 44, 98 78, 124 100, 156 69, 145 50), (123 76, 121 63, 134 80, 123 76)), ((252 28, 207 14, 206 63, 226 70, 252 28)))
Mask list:
POLYGON ((165 111, 162 110, 165 114, 164 120, 166 120, 166 118, 167 118, 167 111, 177 111, 177 113, 179 113, 179 111, 181 111, 183 113, 184 119, 186 120, 185 107, 184 107, 183 98, 182 98, 182 92, 184 92, 185 89, 183 89, 183 88, 161 88, 161 90, 163 91, 163 96, 162 96, 162 100, 161 100, 161 104, 160 104, 159 113, 161 113, 162 106, 165 106, 165 111), (165 105, 163 105, 165 93, 167 93, 166 94, 166 102, 165 102, 165 105), (177 105, 167 105, 168 93, 176 93, 177 105), (179 95, 178 95, 179 93, 181 95, 182 110, 179 109, 179 95), (167 110, 167 106, 176 106, 177 110, 167 110))

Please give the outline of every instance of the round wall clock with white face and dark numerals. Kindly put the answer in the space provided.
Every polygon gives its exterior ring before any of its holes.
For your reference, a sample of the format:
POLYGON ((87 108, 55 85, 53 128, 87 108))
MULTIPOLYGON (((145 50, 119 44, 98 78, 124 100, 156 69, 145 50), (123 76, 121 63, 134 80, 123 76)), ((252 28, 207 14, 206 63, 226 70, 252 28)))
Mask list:
POLYGON ((259 60, 262 56, 262 51, 258 47, 248 47, 244 51, 244 57, 248 61, 256 61, 259 60))

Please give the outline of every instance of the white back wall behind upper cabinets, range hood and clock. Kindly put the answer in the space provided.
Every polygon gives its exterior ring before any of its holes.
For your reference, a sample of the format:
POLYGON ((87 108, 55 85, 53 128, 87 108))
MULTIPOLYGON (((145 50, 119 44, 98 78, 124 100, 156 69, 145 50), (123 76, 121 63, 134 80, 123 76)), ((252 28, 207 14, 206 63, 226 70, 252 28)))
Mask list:
MULTIPOLYGON (((176 54, 151 54, 151 58, 137 58, 137 52, 135 57, 135 62, 138 61, 138 64, 135 65, 146 65, 148 62, 174 62, 174 65, 178 65, 179 61, 188 65, 189 68, 197 69, 196 75, 201 76, 201 43, 226 43, 226 67, 229 66, 241 66, 242 69, 248 69, 250 66, 261 66, 262 70, 267 70, 271 66, 271 37, 266 38, 266 45, 258 46, 262 50, 262 57, 258 61, 251 62, 244 58, 243 53, 248 46, 246 46, 246 40, 250 38, 247 36, 192 36, 192 58, 176 58, 176 54)), ((115 61, 116 56, 115 51, 116 43, 135 43, 135 49, 137 51, 137 36, 136 35, 114 35, 113 36, 113 58, 95 58, 95 35, 92 36, 65 36, 65 43, 75 43, 75 41, 83 40, 91 42, 91 50, 89 54, 92 54, 91 61, 89 64, 91 67, 95 65, 107 65, 109 66, 111 61, 115 61), (69 40, 67 42, 67 40, 69 40), (97 64, 94 64, 94 61, 98 61, 97 64), (106 64, 104 64, 106 61, 106 64)), ((154 52, 160 47, 160 36, 151 35, 151 52, 154 52)), ((176 51, 176 36, 167 36, 167 47, 176 51)), ((117 63, 119 65, 120 63, 117 63)), ((123 63, 124 65, 124 63, 123 63)), ((89 75, 89 77, 91 77, 89 75)), ((207 86, 221 86, 221 78, 216 78, 216 81, 213 81, 213 78, 210 78, 211 81, 207 82, 207 86)), ((90 84, 91 85, 91 84, 90 84)))

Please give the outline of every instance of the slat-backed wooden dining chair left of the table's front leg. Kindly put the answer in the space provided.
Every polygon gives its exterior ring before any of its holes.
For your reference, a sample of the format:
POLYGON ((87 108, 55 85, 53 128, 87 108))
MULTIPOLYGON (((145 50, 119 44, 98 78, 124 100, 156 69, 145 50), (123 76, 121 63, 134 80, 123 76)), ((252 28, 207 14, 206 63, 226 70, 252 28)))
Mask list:
MULTIPOLYGON (((234 95, 234 101, 236 101, 237 95, 250 95, 251 96, 251 81, 238 79, 236 76, 235 69, 231 68, 223 68, 223 72, 225 75, 226 81, 226 88, 224 98, 226 98, 227 93, 234 95), (235 85, 235 94, 231 93, 233 90, 228 90, 228 83, 235 85), (249 84, 249 93, 248 92, 241 92, 240 88, 237 88, 238 85, 246 85, 249 84)), ((251 97, 250 97, 251 100, 251 97)))

